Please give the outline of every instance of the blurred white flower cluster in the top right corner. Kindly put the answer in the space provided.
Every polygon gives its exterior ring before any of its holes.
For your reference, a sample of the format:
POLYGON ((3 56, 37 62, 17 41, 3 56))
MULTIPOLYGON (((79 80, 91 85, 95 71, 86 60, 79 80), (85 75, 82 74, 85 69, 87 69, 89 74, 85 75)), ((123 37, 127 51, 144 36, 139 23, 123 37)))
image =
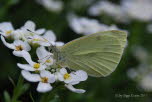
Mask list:
POLYGON ((100 0, 93 4, 88 12, 92 16, 106 14, 114 20, 123 23, 128 23, 131 19, 140 21, 152 20, 151 0, 121 0, 120 2, 120 5, 118 5, 106 0, 100 0))

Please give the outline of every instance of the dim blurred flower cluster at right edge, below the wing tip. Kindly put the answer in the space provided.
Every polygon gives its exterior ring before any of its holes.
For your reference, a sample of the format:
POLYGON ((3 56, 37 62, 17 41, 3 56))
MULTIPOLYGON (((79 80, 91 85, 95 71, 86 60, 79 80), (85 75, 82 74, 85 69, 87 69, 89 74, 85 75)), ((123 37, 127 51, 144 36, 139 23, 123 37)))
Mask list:
POLYGON ((139 61, 139 65, 130 68, 127 72, 129 78, 138 83, 138 86, 147 92, 152 91, 152 64, 150 53, 141 46, 133 47, 133 55, 139 61))

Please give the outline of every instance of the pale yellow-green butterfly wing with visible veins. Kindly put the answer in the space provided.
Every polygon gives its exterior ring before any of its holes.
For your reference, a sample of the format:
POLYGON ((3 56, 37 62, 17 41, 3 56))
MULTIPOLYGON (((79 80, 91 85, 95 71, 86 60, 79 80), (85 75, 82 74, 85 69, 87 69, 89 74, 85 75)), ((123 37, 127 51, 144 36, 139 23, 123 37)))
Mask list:
POLYGON ((62 65, 73 70, 84 70, 94 77, 112 73, 121 59, 126 43, 126 33, 122 31, 100 32, 73 40, 60 51, 62 65), (121 37, 115 34, 122 34, 121 37))

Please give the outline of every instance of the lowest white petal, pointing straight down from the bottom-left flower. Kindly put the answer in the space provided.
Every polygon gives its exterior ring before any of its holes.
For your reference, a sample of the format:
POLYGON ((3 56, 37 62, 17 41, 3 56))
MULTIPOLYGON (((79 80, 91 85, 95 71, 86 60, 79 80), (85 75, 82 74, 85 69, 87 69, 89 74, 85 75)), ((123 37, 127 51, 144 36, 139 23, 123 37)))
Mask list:
POLYGON ((37 87, 38 92, 45 93, 51 90, 52 90, 52 86, 49 83, 39 82, 38 87, 37 87))

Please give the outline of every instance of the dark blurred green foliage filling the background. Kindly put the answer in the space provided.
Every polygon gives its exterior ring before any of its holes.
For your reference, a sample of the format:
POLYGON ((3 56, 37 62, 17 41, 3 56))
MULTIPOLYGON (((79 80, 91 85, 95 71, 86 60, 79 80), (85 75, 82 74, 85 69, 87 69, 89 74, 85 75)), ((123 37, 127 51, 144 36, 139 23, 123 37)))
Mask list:
MULTIPOLYGON (((27 20, 32 20, 36 23, 37 28, 51 29, 55 32, 59 41, 68 42, 80 37, 74 33, 68 26, 66 19, 67 13, 75 11, 80 16, 88 16, 87 7, 80 6, 75 8, 73 3, 80 3, 83 0, 63 0, 64 10, 60 13, 47 11, 35 0, 0 0, 0 22, 11 21, 15 28, 22 26, 27 20)), ((111 0, 119 3, 119 0, 111 0)), ((90 17, 90 16, 89 16, 90 17)), ((93 18, 93 17, 92 17, 93 18)), ((152 51, 152 35, 147 34, 146 22, 132 21, 131 24, 119 24, 107 17, 95 17, 105 24, 117 24, 123 29, 129 31, 128 47, 125 49, 124 56, 117 70, 106 78, 92 78, 86 82, 77 85, 77 87, 87 90, 85 94, 76 94, 68 90, 61 91, 61 96, 64 100, 55 97, 50 102, 151 102, 151 93, 146 93, 137 88, 135 82, 130 80, 126 72, 130 67, 136 66, 138 62, 134 59, 131 53, 131 48, 134 45, 144 46, 148 51, 152 51), (117 94, 145 94, 145 97, 140 98, 117 98, 117 94)), ((20 70, 16 63, 18 58, 12 56, 12 52, 7 49, 2 42, 0 43, 0 100, 2 102, 10 102, 13 97, 13 84, 9 80, 11 77, 14 83, 17 83, 20 70), (5 101, 4 101, 5 100, 5 101)), ((28 82, 26 82, 28 83, 28 82)), ((22 83, 23 84, 23 83, 22 83)), ((32 83, 30 83, 32 84, 32 83)), ((26 85, 26 84, 25 84, 26 85)), ((28 86, 26 86, 27 88, 28 86)), ((30 89, 25 93, 18 93, 19 100, 22 102, 38 102, 42 94, 35 91, 36 84, 32 84, 30 89)), ((24 92, 26 89, 20 89, 24 92), (24 91, 23 91, 24 90, 24 91)), ((47 93, 48 94, 48 93, 47 93)), ((51 92, 50 92, 51 94, 51 92)), ((18 98, 18 96, 15 96, 18 98)), ((16 100, 16 99, 15 99, 16 100)), ((13 101, 17 102, 17 101, 13 101)))

